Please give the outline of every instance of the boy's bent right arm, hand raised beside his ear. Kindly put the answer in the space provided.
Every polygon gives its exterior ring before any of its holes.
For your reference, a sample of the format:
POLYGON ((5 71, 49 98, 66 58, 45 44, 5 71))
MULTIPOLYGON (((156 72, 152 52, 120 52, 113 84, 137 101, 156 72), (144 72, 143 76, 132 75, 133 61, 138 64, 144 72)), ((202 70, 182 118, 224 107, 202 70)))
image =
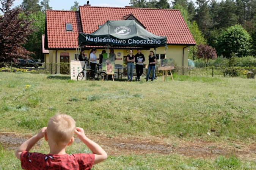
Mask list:
POLYGON ((93 164, 102 162, 107 158, 107 153, 98 144, 85 136, 83 128, 75 128, 75 134, 94 153, 95 158, 93 164))

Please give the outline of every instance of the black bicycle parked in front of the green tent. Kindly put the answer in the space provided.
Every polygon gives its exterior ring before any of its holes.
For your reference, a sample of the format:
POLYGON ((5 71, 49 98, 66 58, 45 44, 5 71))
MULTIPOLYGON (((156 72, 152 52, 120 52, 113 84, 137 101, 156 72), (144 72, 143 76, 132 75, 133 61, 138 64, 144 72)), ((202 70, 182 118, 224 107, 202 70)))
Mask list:
POLYGON ((85 59, 85 65, 82 67, 83 70, 77 75, 77 80, 80 81, 80 80, 84 79, 84 77, 85 77, 85 72, 84 71, 87 71, 86 77, 89 78, 89 79, 92 79, 92 80, 108 80, 107 73, 105 73, 104 70, 102 70, 100 72, 97 71, 99 66, 101 66, 101 64, 96 63, 96 69, 95 70, 85 69, 85 66, 89 61, 90 61, 89 59, 85 59), (94 74, 94 77, 91 77, 91 74, 94 74))

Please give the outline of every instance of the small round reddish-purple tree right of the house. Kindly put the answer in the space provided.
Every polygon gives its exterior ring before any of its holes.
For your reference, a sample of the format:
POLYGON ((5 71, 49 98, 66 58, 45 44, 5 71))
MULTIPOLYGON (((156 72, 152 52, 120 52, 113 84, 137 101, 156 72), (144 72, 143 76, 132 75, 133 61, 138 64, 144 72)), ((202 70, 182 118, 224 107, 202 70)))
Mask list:
POLYGON ((208 46, 207 44, 205 44, 205 45, 199 44, 197 46, 196 55, 197 55, 198 59, 204 60, 206 67, 207 67, 207 63, 210 59, 214 60, 217 58, 216 50, 214 48, 208 46))

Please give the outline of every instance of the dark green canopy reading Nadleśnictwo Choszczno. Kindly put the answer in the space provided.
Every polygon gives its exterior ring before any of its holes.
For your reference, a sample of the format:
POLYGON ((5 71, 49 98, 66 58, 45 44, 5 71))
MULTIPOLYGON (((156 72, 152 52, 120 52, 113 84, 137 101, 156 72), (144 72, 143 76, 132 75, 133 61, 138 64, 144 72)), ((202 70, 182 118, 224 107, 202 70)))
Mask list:
POLYGON ((80 33, 79 46, 129 46, 157 48, 166 46, 166 37, 160 37, 144 29, 135 20, 108 20, 91 34, 80 33))

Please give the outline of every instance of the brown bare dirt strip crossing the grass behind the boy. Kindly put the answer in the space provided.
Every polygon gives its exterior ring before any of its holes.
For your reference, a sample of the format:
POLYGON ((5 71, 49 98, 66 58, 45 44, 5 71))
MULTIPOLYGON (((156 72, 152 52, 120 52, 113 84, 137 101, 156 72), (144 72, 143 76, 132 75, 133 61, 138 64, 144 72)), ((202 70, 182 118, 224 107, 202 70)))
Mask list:
MULTIPOLYGON (((11 133, 0 133, 0 143, 5 149, 14 150, 29 139, 30 135, 19 136, 11 133)), ((235 155, 238 158, 256 158, 256 144, 216 143, 211 141, 175 141, 166 143, 167 138, 139 139, 139 138, 106 138, 103 136, 88 135, 88 138, 100 144, 108 155, 143 155, 146 153, 179 154, 192 158, 215 158, 220 155, 235 155)), ((78 138, 75 142, 81 142, 78 138)), ((37 145, 42 143, 39 142, 37 145)))

